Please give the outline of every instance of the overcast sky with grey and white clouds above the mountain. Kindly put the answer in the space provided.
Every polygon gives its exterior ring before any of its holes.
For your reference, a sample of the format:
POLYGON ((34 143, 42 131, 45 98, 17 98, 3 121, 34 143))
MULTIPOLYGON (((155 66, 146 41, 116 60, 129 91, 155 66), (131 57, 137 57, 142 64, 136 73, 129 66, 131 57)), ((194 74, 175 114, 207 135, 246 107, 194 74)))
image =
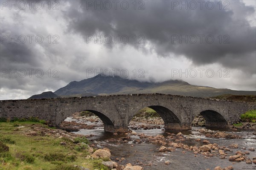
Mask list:
POLYGON ((256 90, 255 0, 0 2, 0 99, 100 72, 256 90))

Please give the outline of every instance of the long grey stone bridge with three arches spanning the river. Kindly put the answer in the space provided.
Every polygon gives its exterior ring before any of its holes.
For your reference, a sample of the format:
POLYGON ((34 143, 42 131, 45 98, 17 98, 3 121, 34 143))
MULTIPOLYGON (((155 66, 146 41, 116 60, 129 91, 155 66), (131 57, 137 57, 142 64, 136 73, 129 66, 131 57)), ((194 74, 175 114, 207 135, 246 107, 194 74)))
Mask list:
POLYGON ((103 121, 105 131, 127 132, 134 114, 149 107, 163 118, 170 130, 191 129, 199 113, 208 127, 228 127, 242 113, 256 109, 255 103, 204 99, 167 94, 129 94, 55 99, 1 100, 0 118, 38 117, 58 126, 78 111, 90 111, 103 121))

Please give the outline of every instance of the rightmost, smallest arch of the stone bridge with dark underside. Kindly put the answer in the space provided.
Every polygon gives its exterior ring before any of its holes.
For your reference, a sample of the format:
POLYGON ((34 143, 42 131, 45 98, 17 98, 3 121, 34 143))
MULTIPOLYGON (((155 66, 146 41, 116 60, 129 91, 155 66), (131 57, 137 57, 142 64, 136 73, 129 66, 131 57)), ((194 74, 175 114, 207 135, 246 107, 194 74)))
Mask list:
POLYGON ((199 114, 202 115, 206 120, 206 127, 228 127, 227 120, 221 115, 221 113, 218 113, 217 111, 204 110, 199 114))

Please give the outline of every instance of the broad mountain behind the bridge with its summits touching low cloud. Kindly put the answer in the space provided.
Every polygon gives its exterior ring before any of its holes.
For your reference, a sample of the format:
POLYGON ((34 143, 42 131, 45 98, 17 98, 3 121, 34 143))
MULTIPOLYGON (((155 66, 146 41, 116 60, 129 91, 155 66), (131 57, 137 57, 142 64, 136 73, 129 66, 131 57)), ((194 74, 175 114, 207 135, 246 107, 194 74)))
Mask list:
POLYGON ((79 82, 70 82, 67 86, 54 92, 54 94, 63 97, 145 93, 162 93, 195 97, 211 97, 222 94, 256 95, 256 91, 233 91, 230 89, 196 86, 181 80, 169 80, 159 83, 139 82, 137 80, 124 79, 118 76, 110 77, 101 74, 79 82))

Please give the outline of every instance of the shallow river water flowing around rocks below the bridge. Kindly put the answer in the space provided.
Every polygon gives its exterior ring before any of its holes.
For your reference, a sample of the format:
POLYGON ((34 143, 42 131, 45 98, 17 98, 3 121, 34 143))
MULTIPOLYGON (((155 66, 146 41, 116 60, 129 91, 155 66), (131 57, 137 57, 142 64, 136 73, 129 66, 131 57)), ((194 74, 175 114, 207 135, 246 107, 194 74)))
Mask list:
MULTIPOLYGON (((218 129, 219 131, 224 131, 227 133, 233 133, 240 136, 243 136, 242 139, 215 139, 207 138, 201 133, 198 132, 198 129, 202 127, 192 127, 192 130, 186 131, 172 131, 172 130, 162 130, 163 125, 160 125, 160 129, 151 129, 151 130, 133 130, 136 133, 144 133, 147 136, 156 136, 163 135, 168 136, 167 133, 178 132, 183 133, 186 137, 184 141, 187 145, 204 145, 202 142, 195 142, 195 139, 201 138, 207 139, 210 143, 217 143, 220 146, 229 146, 230 144, 238 144, 239 148, 232 149, 233 152, 227 152, 228 156, 226 159, 220 159, 218 156, 209 157, 205 159, 203 155, 198 154, 195 157, 192 151, 185 151, 182 148, 176 148, 175 152, 161 153, 157 149, 161 146, 160 144, 152 144, 149 142, 134 143, 135 139, 140 139, 139 136, 131 136, 131 141, 128 143, 120 142, 109 142, 108 139, 118 139, 120 137, 125 137, 127 135, 117 135, 114 136, 112 133, 104 131, 103 124, 100 122, 91 123, 79 121, 77 119, 67 118, 65 121, 76 121, 80 123, 86 123, 87 125, 97 125, 95 129, 81 129, 78 132, 73 132, 76 134, 90 135, 89 140, 96 145, 96 147, 103 148, 108 147, 111 150, 111 159, 115 161, 116 158, 125 158, 124 161, 118 162, 119 164, 131 163, 133 165, 140 165, 144 170, 206 170, 209 168, 213 170, 215 167, 227 167, 232 165, 234 170, 256 170, 256 164, 246 164, 244 161, 241 162, 232 162, 228 160, 229 156, 235 155, 236 151, 241 150, 242 152, 248 151, 250 155, 247 155, 252 160, 253 157, 256 157, 256 151, 249 151, 248 148, 256 148, 256 136, 253 135, 253 131, 244 131, 237 130, 232 132, 230 129, 218 129), (101 125, 101 126, 100 126, 101 125), (246 150, 244 150, 247 148, 246 150), (169 160, 170 164, 165 164, 165 161, 169 160)), ((145 124, 145 123, 144 123, 145 124)), ((205 127, 204 127, 205 128, 205 127)), ((211 129, 216 130, 216 129, 211 129)), ((183 142, 183 143, 184 143, 183 142)))

